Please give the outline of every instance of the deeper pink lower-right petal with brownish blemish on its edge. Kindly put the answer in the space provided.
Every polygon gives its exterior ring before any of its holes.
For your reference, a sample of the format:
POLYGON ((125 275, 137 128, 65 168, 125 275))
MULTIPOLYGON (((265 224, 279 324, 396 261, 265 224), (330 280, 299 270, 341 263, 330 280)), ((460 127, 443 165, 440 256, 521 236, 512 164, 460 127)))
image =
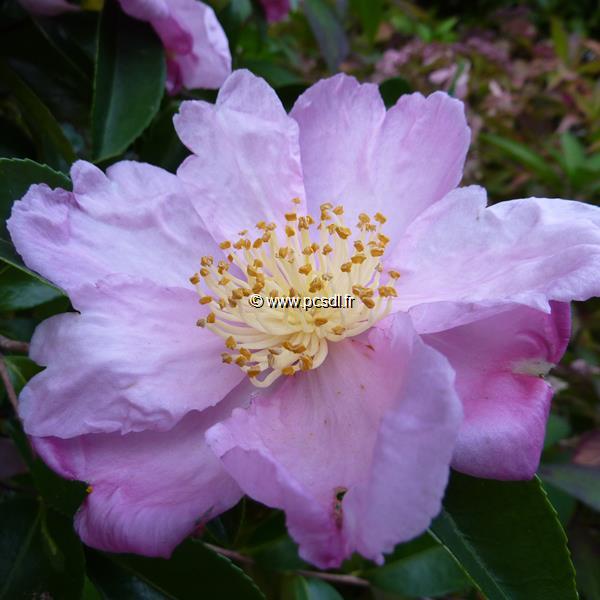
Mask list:
POLYGON ((528 307, 423 336, 456 371, 463 403, 454 468, 476 477, 530 479, 540 460, 552 388, 540 378, 569 341, 568 304, 528 307))

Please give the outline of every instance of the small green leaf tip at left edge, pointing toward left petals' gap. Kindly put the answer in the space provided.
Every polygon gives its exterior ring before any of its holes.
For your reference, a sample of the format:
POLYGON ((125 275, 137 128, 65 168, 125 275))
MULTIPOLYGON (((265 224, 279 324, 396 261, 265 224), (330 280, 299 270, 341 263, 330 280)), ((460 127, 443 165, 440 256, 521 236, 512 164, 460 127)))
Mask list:
POLYGON ((62 296, 62 292, 11 266, 0 266, 0 312, 25 310, 62 296))

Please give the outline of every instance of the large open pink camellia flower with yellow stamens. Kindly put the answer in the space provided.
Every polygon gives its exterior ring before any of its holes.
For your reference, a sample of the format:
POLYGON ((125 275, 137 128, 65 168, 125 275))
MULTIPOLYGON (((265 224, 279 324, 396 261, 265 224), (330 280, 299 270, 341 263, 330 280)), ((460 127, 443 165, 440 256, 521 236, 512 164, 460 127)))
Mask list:
POLYGON ((438 513, 449 466, 537 467, 568 301, 600 292, 600 209, 457 188, 462 103, 386 111, 337 75, 288 115, 235 72, 184 102, 177 175, 77 162, 8 221, 77 313, 36 330, 20 397, 41 456, 91 493, 83 540, 168 556, 242 494, 285 511, 300 554, 376 562, 438 513), (262 308, 252 294, 352 294, 262 308))

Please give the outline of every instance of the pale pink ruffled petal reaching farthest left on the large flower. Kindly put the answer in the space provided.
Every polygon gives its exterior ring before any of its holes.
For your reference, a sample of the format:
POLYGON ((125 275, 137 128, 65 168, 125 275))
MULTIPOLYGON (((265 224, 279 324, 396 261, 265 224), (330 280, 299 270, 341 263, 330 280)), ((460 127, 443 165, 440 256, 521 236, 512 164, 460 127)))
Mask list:
MULTIPOLYGON (((113 273, 190 287, 200 257, 221 252, 181 182, 157 167, 77 162, 73 192, 31 186, 7 225, 26 264, 65 289, 113 273)), ((191 289, 191 288, 190 288, 191 289)))

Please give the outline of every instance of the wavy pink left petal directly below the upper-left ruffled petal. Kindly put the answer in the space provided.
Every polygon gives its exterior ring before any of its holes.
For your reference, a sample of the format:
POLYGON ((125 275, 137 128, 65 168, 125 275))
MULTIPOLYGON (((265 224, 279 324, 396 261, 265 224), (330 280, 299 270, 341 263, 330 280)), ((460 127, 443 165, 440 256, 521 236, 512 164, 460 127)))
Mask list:
POLYGON ((196 327, 193 291, 113 277, 79 291, 81 314, 51 317, 31 357, 47 368, 20 398, 35 436, 165 430, 219 402, 242 378, 223 341, 196 327))

